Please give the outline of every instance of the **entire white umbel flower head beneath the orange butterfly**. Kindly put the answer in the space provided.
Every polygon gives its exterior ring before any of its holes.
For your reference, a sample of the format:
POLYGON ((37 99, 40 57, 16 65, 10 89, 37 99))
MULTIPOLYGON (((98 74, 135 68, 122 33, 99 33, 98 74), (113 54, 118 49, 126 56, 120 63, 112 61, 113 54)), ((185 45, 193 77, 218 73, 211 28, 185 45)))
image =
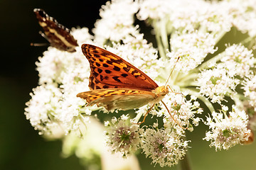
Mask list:
MULTIPOLYGON (((256 60, 252 53, 255 5, 254 0, 108 1, 100 9, 102 18, 95 23, 94 35, 87 28, 72 29, 79 44, 76 52, 49 47, 39 57, 36 62, 39 83, 26 103, 26 118, 40 134, 55 138, 86 135, 85 127, 90 125, 92 112, 99 113, 102 109, 87 107, 84 100, 76 97, 90 90, 90 64, 80 49, 87 43, 119 55, 159 86, 169 88, 169 94, 155 103, 151 111, 149 105, 138 108, 133 123, 129 120, 131 111, 105 124, 108 127, 105 137, 112 152, 127 157, 142 149, 153 164, 177 164, 188 149, 185 131, 193 131, 202 120, 198 118, 203 113, 198 99, 210 110, 209 117, 203 121, 210 129, 204 138, 211 142, 210 146, 228 149, 245 142, 252 134, 247 129, 248 107, 254 111, 250 113, 250 118, 254 118, 251 120, 256 120, 256 60), (136 19, 148 25, 135 26, 136 19), (249 36, 238 44, 220 47, 218 42, 232 27, 249 36), (244 104, 246 101, 248 106, 244 104), (223 106, 227 103, 235 103, 230 112, 223 106), (215 106, 223 106, 223 111, 216 113, 215 106), (148 111, 152 118, 163 123, 161 128, 158 123, 135 124, 148 111)), ((227 39, 225 43, 230 42, 227 39)), ((66 147, 78 143, 73 141, 66 147)), ((78 148, 80 151, 76 152, 81 155, 86 150, 78 148)))

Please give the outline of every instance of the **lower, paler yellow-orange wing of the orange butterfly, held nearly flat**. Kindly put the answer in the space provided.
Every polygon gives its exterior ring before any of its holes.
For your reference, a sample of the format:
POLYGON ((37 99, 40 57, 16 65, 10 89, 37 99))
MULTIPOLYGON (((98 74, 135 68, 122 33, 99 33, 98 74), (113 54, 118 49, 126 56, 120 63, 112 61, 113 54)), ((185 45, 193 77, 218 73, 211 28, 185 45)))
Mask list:
POLYGON ((85 91, 77 95, 87 101, 87 106, 103 106, 107 111, 119 109, 127 111, 139 108, 154 101, 157 96, 150 91, 137 89, 97 89, 85 91))

